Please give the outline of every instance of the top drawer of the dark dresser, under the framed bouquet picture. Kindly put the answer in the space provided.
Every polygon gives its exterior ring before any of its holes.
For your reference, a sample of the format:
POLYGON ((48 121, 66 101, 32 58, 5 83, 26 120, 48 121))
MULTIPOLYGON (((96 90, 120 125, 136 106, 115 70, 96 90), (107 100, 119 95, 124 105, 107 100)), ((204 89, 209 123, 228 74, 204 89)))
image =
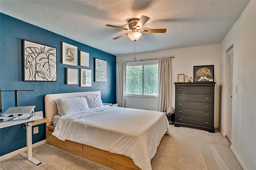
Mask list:
POLYGON ((177 86, 176 93, 212 94, 213 87, 177 86))

